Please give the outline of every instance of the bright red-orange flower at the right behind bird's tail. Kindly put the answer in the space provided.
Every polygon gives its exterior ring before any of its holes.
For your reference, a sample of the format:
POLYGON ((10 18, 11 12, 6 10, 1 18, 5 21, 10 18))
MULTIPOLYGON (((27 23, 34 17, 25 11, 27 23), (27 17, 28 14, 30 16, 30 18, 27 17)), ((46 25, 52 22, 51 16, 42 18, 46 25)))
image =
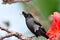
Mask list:
POLYGON ((54 40, 60 36, 60 14, 58 12, 54 12, 53 19, 54 20, 46 33, 46 35, 49 36, 49 40, 54 40))

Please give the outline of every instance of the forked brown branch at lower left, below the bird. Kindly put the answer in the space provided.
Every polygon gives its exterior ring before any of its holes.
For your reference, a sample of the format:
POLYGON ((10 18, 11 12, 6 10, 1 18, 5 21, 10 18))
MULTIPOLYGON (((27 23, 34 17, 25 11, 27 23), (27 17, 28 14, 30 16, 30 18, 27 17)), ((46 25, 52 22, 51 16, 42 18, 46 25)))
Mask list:
POLYGON ((0 40, 3 40, 3 39, 5 39, 5 38, 11 37, 11 36, 15 36, 15 37, 17 37, 18 39, 21 39, 21 40, 32 40, 32 39, 35 37, 35 36, 25 37, 25 36, 23 36, 21 33, 8 30, 8 29, 6 29, 6 28, 4 28, 4 27, 0 27, 0 29, 3 30, 3 31, 8 32, 7 35, 1 36, 1 37, 0 37, 0 40))

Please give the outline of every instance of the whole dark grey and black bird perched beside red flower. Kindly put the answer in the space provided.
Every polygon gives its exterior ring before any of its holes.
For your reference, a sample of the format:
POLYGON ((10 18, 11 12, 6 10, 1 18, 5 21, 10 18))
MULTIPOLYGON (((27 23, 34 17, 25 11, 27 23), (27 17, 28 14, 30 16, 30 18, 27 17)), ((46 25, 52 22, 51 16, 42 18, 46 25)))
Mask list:
POLYGON ((44 36, 45 38, 49 38, 46 35, 46 31, 42 25, 30 14, 22 12, 23 16, 25 17, 26 25, 28 29, 36 36, 44 36))

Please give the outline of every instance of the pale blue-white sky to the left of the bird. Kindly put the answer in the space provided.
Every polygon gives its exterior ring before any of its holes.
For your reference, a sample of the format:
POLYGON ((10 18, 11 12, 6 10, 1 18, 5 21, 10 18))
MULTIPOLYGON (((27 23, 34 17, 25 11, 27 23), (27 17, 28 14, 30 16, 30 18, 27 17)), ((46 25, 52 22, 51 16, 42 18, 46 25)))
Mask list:
MULTIPOLYGON (((22 33, 25 36, 31 36, 32 33, 26 26, 25 18, 22 14, 23 6, 22 3, 13 3, 13 4, 2 4, 2 0, 0 0, 0 26, 5 28, 6 25, 4 21, 9 21, 10 26, 9 29, 22 33)), ((6 32, 0 30, 0 35, 5 35, 6 32)), ((15 37, 11 37, 5 40, 18 40, 15 37)))

